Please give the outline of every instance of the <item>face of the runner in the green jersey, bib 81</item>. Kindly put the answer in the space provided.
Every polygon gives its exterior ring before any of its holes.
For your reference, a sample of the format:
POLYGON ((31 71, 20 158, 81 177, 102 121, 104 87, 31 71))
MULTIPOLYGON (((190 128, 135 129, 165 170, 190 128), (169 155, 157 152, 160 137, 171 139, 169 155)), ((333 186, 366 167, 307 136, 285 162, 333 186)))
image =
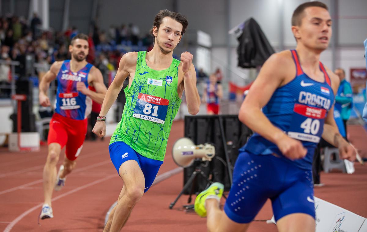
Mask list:
POLYGON ((156 43, 160 50, 168 54, 174 50, 178 42, 181 40, 182 24, 172 19, 171 17, 165 17, 162 19, 162 23, 157 28, 153 29, 156 36, 156 43))

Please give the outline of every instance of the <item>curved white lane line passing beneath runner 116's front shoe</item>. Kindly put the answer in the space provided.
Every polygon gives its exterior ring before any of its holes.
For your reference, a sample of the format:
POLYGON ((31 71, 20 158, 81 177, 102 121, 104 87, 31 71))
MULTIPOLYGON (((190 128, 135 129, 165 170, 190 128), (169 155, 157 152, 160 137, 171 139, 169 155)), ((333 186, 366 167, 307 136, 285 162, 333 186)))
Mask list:
MULTIPOLYGON (((91 183, 89 183, 89 184, 86 184, 86 185, 80 186, 80 187, 78 187, 78 188, 76 188, 76 189, 70 190, 70 191, 68 191, 68 192, 66 192, 66 193, 63 193, 63 194, 61 194, 61 195, 59 195, 59 196, 57 196, 57 197, 52 198, 52 201, 58 200, 58 199, 60 199, 60 198, 62 198, 62 197, 64 197, 64 196, 68 196, 68 195, 70 195, 70 194, 72 194, 72 193, 75 193, 75 192, 77 192, 77 191, 79 191, 79 190, 82 190, 82 189, 88 188, 88 187, 90 187, 90 186, 92 186, 92 185, 95 185, 95 184, 98 184, 98 183, 100 183, 100 182, 106 181, 106 180, 108 180, 108 179, 110 179, 110 178, 112 178, 112 177, 116 177, 116 174, 109 175, 109 176, 107 176, 107 177, 105 177, 105 178, 99 179, 99 180, 97 180, 97 181, 93 181, 93 182, 91 182, 91 183)), ((43 203, 37 204, 36 206, 34 206, 34 207, 30 208, 29 210, 27 210, 27 211, 25 211, 24 213, 22 213, 21 215, 19 215, 17 218, 15 218, 13 221, 11 221, 11 222, 10 222, 10 224, 9 224, 9 225, 4 229, 4 232, 9 232, 9 231, 11 231, 11 229, 12 229, 12 228, 13 228, 13 227, 14 227, 14 226, 15 226, 15 225, 20 221, 20 220, 22 220, 26 215, 28 215, 29 213, 33 212, 34 210, 36 210, 36 209, 40 209, 40 207, 42 207, 42 205, 43 205, 43 203)))

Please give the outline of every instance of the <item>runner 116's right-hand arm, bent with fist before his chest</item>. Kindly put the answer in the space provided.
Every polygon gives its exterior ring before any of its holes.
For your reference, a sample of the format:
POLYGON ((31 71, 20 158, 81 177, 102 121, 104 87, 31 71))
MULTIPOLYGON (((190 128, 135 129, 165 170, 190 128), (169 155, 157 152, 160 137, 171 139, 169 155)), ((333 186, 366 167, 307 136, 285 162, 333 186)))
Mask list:
POLYGON ((92 98, 92 100, 97 102, 98 104, 102 104, 107 88, 103 83, 101 71, 95 66, 93 66, 90 70, 90 73, 88 75, 88 83, 90 83, 91 86, 95 88, 95 91, 87 88, 83 82, 78 82, 76 89, 81 93, 87 95, 88 97, 92 98))

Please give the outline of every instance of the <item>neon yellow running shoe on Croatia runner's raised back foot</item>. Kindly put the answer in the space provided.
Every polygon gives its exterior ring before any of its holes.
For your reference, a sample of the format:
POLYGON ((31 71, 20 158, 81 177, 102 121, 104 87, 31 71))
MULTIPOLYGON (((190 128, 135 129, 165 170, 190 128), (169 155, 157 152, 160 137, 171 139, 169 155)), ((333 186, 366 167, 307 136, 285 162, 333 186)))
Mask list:
POLYGON ((195 199, 194 209, 195 212, 201 216, 206 217, 205 200, 206 199, 217 199, 218 202, 222 197, 224 191, 224 185, 219 182, 214 182, 205 189, 203 192, 199 193, 195 199))

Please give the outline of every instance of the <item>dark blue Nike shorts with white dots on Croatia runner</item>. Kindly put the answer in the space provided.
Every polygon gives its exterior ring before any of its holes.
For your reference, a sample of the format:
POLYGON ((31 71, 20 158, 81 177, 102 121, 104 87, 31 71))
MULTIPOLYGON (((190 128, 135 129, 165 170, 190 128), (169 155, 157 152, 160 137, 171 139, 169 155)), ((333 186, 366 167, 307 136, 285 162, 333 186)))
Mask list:
POLYGON ((254 220, 267 199, 275 220, 292 213, 315 218, 311 170, 301 169, 273 155, 241 152, 233 170, 233 184, 224 211, 238 223, 254 220))

